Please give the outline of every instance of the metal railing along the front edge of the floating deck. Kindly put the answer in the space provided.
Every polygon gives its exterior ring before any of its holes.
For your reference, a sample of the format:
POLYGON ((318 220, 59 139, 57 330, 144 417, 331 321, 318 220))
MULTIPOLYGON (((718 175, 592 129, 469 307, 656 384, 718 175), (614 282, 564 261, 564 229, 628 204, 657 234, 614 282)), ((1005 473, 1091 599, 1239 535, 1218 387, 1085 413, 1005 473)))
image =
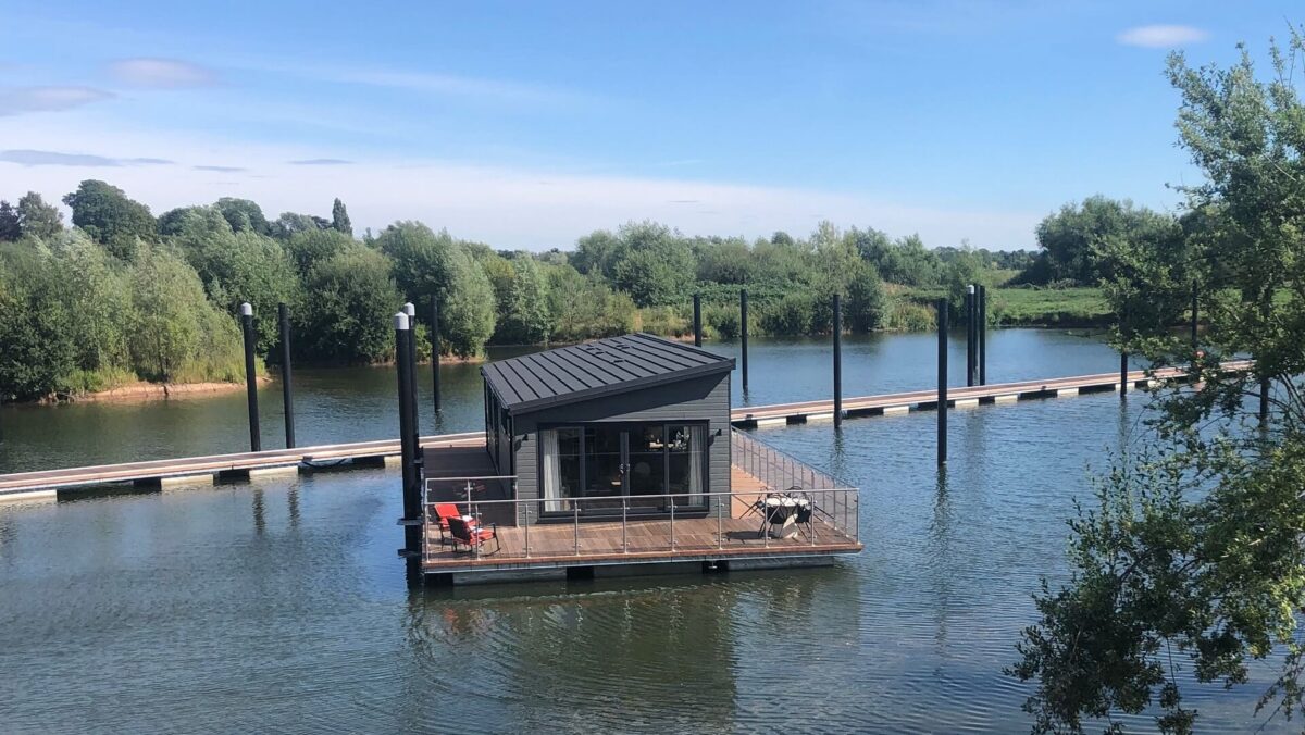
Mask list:
POLYGON ((427 503, 423 504, 423 561, 468 556, 504 561, 539 556, 583 559, 641 552, 675 556, 710 554, 727 547, 800 551, 803 546, 837 548, 860 543, 857 491, 847 487, 792 491, 795 501, 786 513, 797 518, 799 505, 810 510, 808 522, 793 524, 775 524, 767 514, 765 499, 773 495, 769 490, 544 500, 432 499, 431 491, 428 484, 427 503), (459 542, 467 552, 453 556, 454 552, 440 543, 438 537, 432 540, 432 533, 438 530, 438 518, 433 514, 437 503, 457 505, 462 516, 479 529, 489 527, 489 520, 495 517, 510 518, 514 525, 500 524, 495 529, 500 534, 495 551, 485 551, 488 542, 470 546, 459 542), (538 522, 540 520, 544 522, 538 522), (779 537, 775 535, 776 529, 779 537), (534 544, 531 537, 535 538, 534 544))

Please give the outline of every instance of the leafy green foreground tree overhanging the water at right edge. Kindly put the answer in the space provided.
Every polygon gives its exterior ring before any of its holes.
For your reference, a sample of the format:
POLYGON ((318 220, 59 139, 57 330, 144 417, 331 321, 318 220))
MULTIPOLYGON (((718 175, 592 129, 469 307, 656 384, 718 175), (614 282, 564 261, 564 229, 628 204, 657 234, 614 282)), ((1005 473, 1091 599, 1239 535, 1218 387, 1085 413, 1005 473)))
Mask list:
POLYGON ((1199 383, 1164 394, 1161 443, 1100 479, 1096 505, 1071 522, 1069 582, 1036 595, 1040 619, 1013 672, 1036 681, 1026 709, 1037 732, 1079 732, 1118 712, 1155 712, 1163 731, 1189 732, 1191 688, 1244 684, 1270 657, 1280 668, 1259 708, 1305 714, 1305 104, 1291 76, 1305 59, 1300 29, 1272 59, 1271 78, 1258 81, 1245 50, 1227 69, 1171 57, 1181 142, 1206 176, 1184 189, 1184 238, 1095 243, 1114 269, 1121 347, 1194 366, 1199 383), (1202 352, 1154 315, 1129 319, 1152 281, 1174 308, 1174 281, 1190 279, 1210 295, 1202 352), (1221 369, 1233 355, 1254 368, 1221 369), (1271 389, 1263 426, 1261 381, 1271 389))

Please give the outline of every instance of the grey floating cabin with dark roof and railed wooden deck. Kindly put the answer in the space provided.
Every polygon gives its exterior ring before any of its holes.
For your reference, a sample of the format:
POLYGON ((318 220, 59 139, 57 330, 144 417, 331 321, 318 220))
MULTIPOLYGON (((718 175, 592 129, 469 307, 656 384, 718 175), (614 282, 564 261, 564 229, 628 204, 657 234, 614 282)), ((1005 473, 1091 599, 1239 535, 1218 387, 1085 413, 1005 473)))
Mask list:
POLYGON ((467 584, 859 552, 855 488, 731 428, 732 369, 651 334, 484 366, 484 446, 425 452, 423 572, 467 584))

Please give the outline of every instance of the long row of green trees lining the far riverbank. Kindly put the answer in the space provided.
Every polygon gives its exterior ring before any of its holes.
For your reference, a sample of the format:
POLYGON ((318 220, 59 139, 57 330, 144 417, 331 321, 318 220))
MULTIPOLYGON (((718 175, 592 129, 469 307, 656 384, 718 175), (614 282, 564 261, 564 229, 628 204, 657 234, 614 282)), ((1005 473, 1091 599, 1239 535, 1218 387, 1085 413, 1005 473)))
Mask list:
MULTIPOLYGON (((775 232, 690 238, 630 222, 581 238, 570 252, 496 251, 420 222, 355 235, 341 200, 330 218, 224 197, 155 217, 106 181, 63 198, 0 201, 0 396, 98 390, 136 379, 234 380, 243 375, 235 321, 256 313, 260 356, 275 360, 277 304, 290 305, 295 359, 390 359, 389 316, 408 300, 441 315, 441 347, 471 358, 488 343, 573 342, 649 330, 685 336, 703 295, 711 337, 740 332, 749 290, 754 334, 821 334, 843 295, 853 332, 925 329, 930 307, 910 287, 996 282, 1032 253, 929 249, 919 236, 822 222, 806 238, 775 232)), ((429 345, 425 319, 418 339, 429 345)))

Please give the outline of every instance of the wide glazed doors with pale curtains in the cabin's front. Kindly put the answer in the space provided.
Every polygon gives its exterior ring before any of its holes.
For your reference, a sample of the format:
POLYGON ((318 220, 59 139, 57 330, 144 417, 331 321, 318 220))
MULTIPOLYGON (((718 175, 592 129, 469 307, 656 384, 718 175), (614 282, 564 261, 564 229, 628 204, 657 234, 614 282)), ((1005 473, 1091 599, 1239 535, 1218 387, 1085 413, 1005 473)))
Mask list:
POLYGON ((544 512, 706 505, 705 423, 585 424, 539 432, 544 512), (683 496, 683 497, 681 497, 683 496), (603 499, 613 499, 604 503, 603 499))

